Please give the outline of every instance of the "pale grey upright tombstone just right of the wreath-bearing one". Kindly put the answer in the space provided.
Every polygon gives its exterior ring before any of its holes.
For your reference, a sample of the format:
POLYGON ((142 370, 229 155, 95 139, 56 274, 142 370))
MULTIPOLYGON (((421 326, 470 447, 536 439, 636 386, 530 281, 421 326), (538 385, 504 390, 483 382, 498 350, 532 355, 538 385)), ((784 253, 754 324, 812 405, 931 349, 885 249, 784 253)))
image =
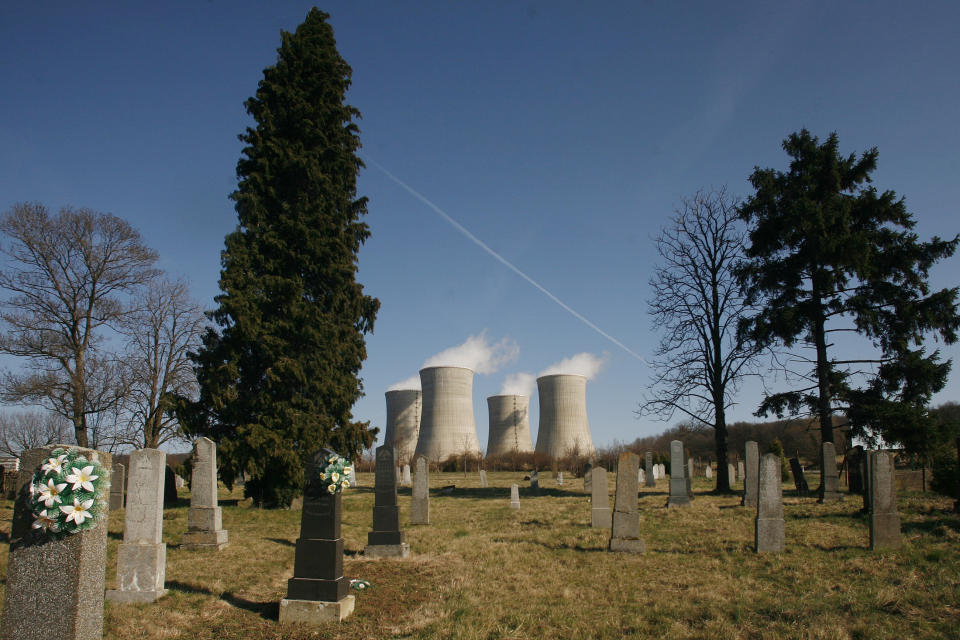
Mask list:
MULTIPOLYGON (((130 481, 123 542, 117 547, 115 602, 153 602, 166 595, 167 545, 163 543, 163 482, 167 454, 140 449, 130 454, 130 481)), ((114 467, 116 468, 116 466, 114 467)))

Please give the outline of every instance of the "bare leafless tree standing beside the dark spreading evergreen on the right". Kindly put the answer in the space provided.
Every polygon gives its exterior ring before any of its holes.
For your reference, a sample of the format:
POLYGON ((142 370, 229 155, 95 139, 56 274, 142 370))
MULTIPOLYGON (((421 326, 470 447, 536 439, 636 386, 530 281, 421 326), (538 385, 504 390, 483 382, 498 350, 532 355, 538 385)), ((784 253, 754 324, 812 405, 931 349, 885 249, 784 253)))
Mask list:
POLYGON ((757 350, 737 339, 744 311, 733 269, 743 255, 737 202, 726 189, 682 201, 657 238, 662 263, 650 280, 650 314, 664 333, 650 396, 638 413, 669 420, 676 412, 716 435, 717 491, 730 490, 726 410, 737 383, 754 371, 757 350))

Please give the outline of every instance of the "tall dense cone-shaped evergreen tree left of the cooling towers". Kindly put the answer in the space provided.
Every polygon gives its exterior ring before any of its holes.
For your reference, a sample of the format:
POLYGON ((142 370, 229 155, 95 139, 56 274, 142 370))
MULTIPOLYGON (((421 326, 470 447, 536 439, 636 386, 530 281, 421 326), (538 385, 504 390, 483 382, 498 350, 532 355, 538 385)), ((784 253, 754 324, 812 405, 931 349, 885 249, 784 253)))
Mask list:
POLYGON ((195 354, 199 401, 180 411, 192 433, 219 443, 223 479, 244 474, 247 496, 265 506, 291 502, 319 448, 355 455, 376 434, 351 414, 380 303, 355 279, 369 236, 356 193, 360 113, 344 103, 351 69, 328 18, 314 8, 282 33, 245 103, 256 127, 240 136, 239 225, 210 314, 219 331, 195 354))

